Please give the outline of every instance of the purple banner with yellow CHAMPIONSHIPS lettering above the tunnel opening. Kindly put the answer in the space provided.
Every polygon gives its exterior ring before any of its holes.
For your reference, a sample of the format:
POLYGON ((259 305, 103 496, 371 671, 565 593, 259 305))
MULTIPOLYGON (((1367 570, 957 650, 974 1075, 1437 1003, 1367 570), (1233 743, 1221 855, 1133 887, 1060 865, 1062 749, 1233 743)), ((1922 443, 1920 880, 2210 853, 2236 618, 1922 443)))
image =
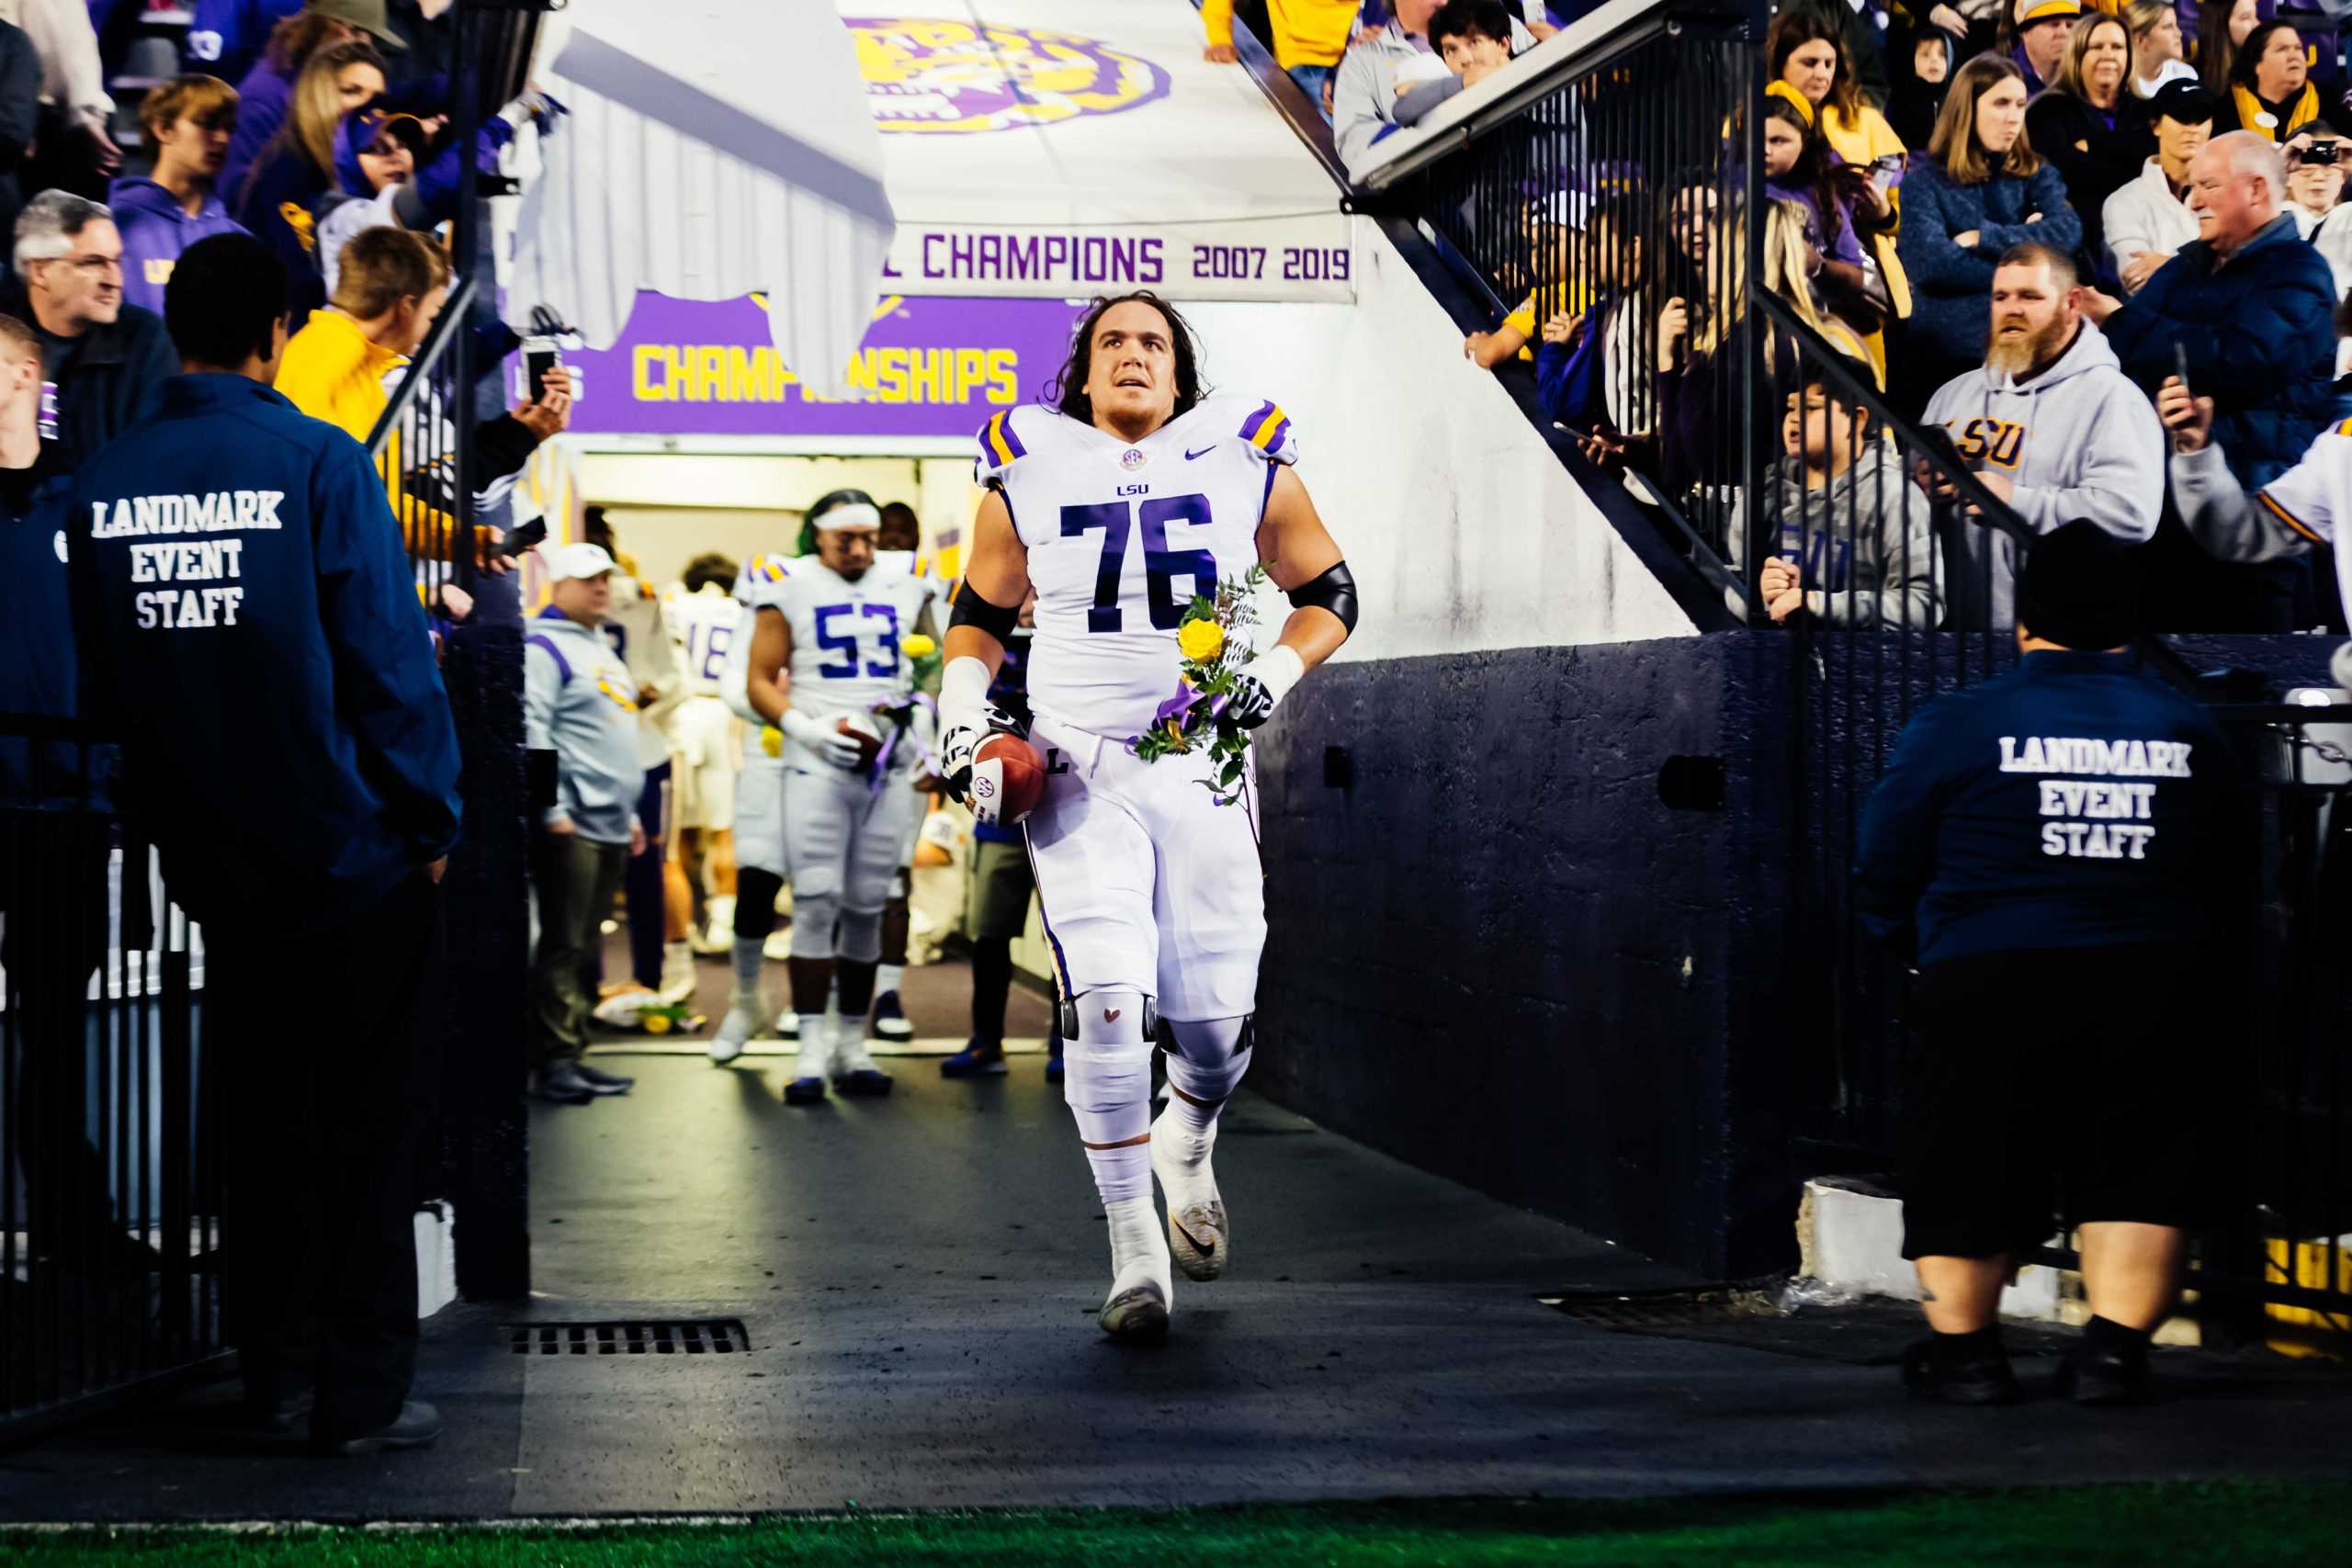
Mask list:
POLYGON ((849 364, 861 400, 811 393, 769 343, 757 299, 637 294, 621 341, 567 355, 590 435, 974 435, 1035 402, 1070 353, 1063 299, 884 299, 849 364))

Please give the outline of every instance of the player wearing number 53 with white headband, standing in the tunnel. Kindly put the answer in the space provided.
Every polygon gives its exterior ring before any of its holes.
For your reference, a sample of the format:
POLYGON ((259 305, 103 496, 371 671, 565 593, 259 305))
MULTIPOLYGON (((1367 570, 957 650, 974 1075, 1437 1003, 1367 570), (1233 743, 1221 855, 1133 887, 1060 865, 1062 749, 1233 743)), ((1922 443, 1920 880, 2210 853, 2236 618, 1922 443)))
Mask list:
MULTIPOLYGON (((880 508, 840 489, 809 508, 816 555, 783 562, 774 583, 753 583, 755 625, 748 701, 783 731, 786 865, 793 875, 793 1011, 800 1067, 783 1088, 793 1105, 826 1095, 889 1093, 866 1053, 866 1023, 882 959, 882 905, 898 846, 917 811, 915 783, 929 750, 927 715, 913 703, 903 639, 931 602, 906 571, 875 571, 880 508), (840 1032, 826 1001, 840 980, 840 1032), (830 1072, 828 1072, 830 1067, 830 1072)), ((743 898, 750 900, 750 879, 743 898)), ((743 905, 736 905, 736 952, 743 905)))

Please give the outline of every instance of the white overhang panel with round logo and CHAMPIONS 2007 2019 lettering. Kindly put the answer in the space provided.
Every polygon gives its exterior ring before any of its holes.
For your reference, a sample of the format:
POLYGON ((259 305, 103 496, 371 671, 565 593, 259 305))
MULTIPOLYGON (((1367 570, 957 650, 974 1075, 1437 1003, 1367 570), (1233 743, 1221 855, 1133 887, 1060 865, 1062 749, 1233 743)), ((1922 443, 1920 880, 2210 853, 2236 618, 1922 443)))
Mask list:
POLYGON ((898 212, 884 287, 1352 301, 1352 226, 1185 5, 840 0, 898 212), (950 9, 950 7, 941 7, 950 9))

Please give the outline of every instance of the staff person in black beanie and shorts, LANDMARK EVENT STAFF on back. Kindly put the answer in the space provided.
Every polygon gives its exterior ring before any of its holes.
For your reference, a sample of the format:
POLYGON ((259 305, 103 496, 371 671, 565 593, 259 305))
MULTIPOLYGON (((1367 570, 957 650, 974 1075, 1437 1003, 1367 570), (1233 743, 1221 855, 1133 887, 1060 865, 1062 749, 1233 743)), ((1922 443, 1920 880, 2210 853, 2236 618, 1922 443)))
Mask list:
POLYGON ((2034 541, 2016 670, 1912 719, 1863 813, 1856 907, 1919 961, 1903 1255, 1933 1333, 1903 1375, 1924 1396, 2016 1399, 1994 1309, 2060 1208, 2096 1314, 2074 1399, 2145 1392, 2178 1291, 2246 818, 2220 729, 2126 651, 2136 616, 2110 534, 2034 541))

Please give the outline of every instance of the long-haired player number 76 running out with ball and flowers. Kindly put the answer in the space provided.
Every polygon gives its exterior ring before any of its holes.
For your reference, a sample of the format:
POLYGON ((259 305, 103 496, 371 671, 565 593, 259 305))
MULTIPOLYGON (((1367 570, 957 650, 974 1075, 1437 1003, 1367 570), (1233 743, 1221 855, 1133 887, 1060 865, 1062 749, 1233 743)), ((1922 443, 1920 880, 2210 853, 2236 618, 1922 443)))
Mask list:
MULTIPOLYGON (((1230 1258, 1209 1154, 1249 1067, 1265 945, 1254 785, 1218 806, 1204 750, 1143 762, 1129 741, 1176 693, 1190 599, 1256 562, 1294 609, 1225 712, 1263 724, 1348 639, 1355 583, 1294 458, 1282 409, 1202 397, 1190 329, 1152 294, 1089 310, 1056 407, 1009 409, 981 430, 990 494, 948 628, 941 766, 969 799, 974 752, 1014 729, 988 708, 988 682, 1035 588, 1028 738, 1047 788, 1028 842, 1061 969, 1065 1098, 1110 1220, 1098 1321, 1117 1340, 1167 1333, 1171 1248, 1190 1279, 1216 1279, 1230 1258), (1157 1121, 1155 1016, 1174 1088, 1157 1121)), ((990 818, 993 802, 971 806, 990 818)))

